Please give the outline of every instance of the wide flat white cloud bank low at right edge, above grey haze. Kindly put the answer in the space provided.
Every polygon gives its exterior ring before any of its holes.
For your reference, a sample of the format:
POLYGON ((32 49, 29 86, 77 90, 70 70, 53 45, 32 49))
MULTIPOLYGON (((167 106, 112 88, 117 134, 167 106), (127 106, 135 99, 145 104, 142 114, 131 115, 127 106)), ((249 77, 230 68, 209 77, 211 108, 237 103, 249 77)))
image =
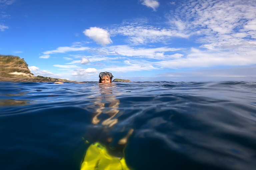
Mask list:
POLYGON ((256 64, 256 50, 247 51, 238 48, 236 51, 201 51, 192 48, 184 57, 153 62, 153 65, 162 68, 203 68, 214 66, 243 66, 256 64))

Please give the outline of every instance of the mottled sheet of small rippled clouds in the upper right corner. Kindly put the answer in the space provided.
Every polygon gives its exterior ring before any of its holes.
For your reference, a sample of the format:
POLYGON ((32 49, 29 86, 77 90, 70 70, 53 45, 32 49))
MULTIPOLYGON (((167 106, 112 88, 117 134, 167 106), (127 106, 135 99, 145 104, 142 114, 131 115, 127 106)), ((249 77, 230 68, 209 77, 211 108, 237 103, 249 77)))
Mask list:
POLYGON ((203 43, 202 47, 218 49, 223 43, 238 44, 256 38, 254 1, 184 2, 177 4, 178 8, 169 15, 170 27, 179 33, 199 36, 196 42, 203 43))

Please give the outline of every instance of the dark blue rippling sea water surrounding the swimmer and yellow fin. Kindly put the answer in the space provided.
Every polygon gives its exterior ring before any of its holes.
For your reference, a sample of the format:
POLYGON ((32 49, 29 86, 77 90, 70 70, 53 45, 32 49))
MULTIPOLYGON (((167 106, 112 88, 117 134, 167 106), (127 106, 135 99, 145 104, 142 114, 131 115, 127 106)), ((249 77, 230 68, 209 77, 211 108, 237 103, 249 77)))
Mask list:
POLYGON ((133 170, 255 170, 256 83, 0 82, 0 137, 0 170, 79 170, 94 142, 133 170))

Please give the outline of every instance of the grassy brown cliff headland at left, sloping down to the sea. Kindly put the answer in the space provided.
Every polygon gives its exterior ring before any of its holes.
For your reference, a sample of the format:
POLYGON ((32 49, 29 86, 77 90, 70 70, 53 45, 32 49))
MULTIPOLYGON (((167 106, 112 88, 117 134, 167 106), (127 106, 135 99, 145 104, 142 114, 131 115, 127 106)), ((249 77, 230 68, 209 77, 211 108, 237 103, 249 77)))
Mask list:
POLYGON ((13 55, 0 55, 0 81, 11 82, 75 82, 66 79, 34 76, 24 58, 13 55))

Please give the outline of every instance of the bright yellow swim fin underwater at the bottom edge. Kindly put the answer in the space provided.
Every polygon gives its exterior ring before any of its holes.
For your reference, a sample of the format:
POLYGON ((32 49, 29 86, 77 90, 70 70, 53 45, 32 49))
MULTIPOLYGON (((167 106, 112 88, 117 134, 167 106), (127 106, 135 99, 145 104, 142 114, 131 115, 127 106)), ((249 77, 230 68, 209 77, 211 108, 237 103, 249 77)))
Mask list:
POLYGON ((100 143, 91 144, 86 151, 80 170, 130 170, 124 158, 108 154, 100 143))

